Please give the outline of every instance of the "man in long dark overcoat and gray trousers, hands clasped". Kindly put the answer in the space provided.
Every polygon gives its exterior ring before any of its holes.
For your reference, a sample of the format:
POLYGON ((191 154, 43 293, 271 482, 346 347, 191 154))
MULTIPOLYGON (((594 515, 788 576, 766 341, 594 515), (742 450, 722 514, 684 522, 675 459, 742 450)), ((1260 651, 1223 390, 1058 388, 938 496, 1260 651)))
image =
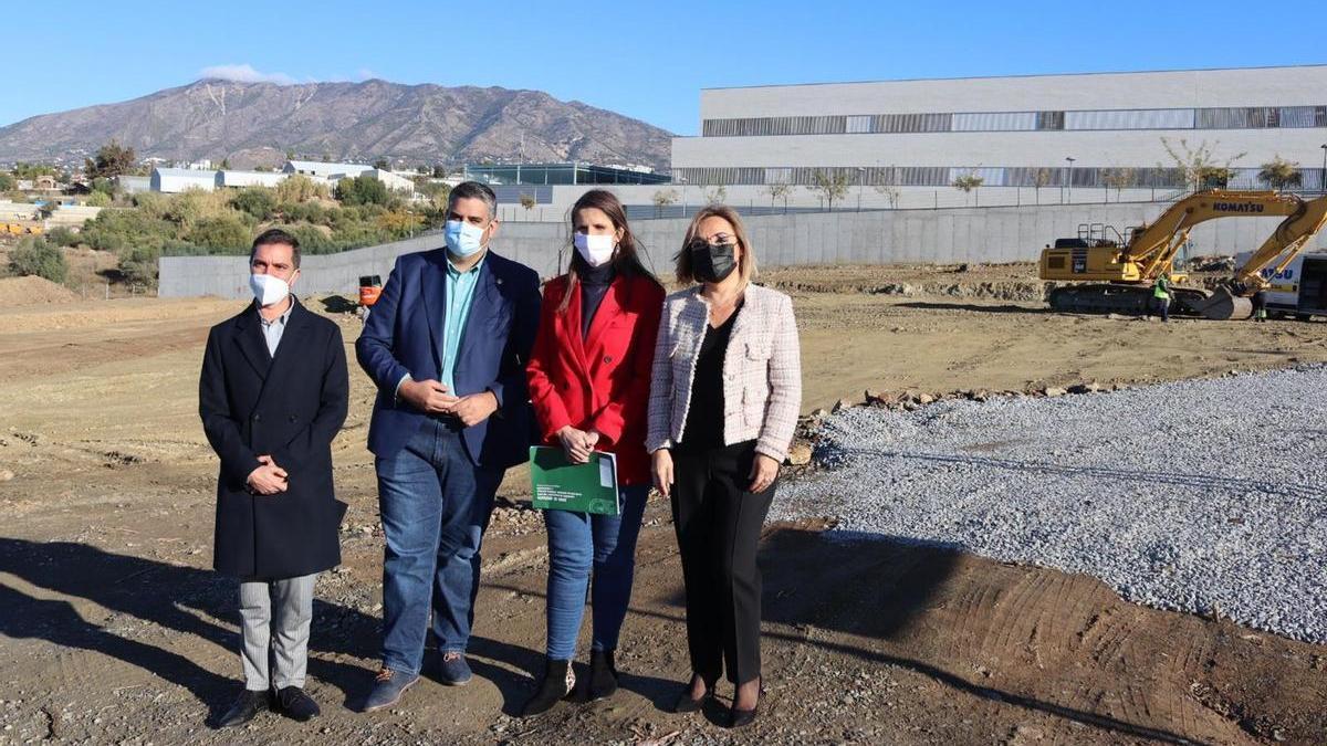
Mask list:
POLYGON ((291 295, 300 244, 281 230, 253 240, 253 303, 212 327, 199 414, 220 458, 214 567, 240 580, 244 692, 218 726, 265 709, 307 721, 313 584, 341 561, 345 514, 332 486, 332 439, 349 380, 341 329, 291 295), (272 662, 275 661, 275 665, 272 662))

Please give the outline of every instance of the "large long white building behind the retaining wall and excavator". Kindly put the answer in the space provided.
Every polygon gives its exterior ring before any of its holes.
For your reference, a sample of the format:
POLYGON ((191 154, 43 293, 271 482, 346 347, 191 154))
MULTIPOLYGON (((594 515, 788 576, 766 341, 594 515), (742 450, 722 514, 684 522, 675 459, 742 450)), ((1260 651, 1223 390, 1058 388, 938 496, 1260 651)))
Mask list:
POLYGON ((1266 188, 1281 157, 1319 191, 1327 65, 707 89, 671 161, 691 200, 723 186, 738 204, 817 206, 819 173, 847 182, 849 208, 1103 202, 1184 188, 1162 138, 1233 158, 1231 188, 1266 188), (967 175, 975 194, 953 186, 967 175))

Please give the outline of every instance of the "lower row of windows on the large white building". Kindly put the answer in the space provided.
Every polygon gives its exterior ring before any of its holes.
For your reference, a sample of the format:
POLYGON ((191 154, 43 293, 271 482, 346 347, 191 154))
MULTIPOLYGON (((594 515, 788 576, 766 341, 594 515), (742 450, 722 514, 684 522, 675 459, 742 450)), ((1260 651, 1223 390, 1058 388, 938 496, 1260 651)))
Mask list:
MULTIPOLYGON (((1231 169, 1226 188, 1267 188, 1258 179, 1261 169, 1231 169)), ((1300 188, 1322 190, 1323 170, 1302 169, 1300 188)), ((821 179, 836 179, 848 186, 947 187, 962 177, 978 177, 982 186, 1005 187, 1109 187, 1109 188, 1180 188, 1186 186, 1177 169, 1066 166, 837 166, 837 167, 702 167, 673 169, 673 182, 697 186, 715 185, 795 185, 813 186, 821 179)), ((1220 185, 1218 185, 1220 186, 1220 185)))

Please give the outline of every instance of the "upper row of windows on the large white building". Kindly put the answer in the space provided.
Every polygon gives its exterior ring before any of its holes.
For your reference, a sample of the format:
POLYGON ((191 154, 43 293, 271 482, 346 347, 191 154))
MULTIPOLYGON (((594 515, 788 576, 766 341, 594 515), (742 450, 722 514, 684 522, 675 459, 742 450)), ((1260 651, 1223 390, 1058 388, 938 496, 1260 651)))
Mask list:
POLYGON ((1038 130, 1239 130, 1327 127, 1327 106, 1230 106, 973 114, 856 114, 705 119, 702 137, 1038 130))

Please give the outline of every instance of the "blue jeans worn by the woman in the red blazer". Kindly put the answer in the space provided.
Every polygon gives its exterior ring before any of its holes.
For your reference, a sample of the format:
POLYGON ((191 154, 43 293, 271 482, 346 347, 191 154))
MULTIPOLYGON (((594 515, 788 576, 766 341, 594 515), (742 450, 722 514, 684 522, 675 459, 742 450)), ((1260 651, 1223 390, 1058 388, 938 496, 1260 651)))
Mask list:
POLYGON ((594 583, 593 650, 613 650, 632 600, 636 575, 636 538, 649 485, 620 488, 621 515, 592 515, 545 510, 548 527, 548 657, 576 657, 576 637, 585 613, 585 587, 594 583))

